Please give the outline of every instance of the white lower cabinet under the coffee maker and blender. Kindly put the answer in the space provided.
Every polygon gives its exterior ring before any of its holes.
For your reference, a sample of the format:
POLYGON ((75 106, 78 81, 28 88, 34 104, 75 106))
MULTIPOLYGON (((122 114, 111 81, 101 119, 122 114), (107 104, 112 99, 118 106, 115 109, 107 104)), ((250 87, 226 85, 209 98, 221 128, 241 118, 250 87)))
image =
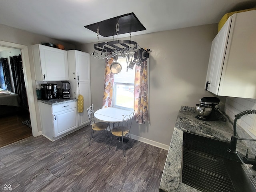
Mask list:
POLYGON ((42 135, 57 140, 78 128, 77 102, 49 105, 38 102, 42 135))

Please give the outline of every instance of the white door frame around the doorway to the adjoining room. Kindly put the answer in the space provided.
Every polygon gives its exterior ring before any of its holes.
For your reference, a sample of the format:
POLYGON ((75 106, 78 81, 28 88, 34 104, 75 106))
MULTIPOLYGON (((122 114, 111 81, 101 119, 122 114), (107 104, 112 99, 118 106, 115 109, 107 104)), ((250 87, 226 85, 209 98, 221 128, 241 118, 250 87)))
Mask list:
POLYGON ((36 106, 34 103, 32 77, 31 77, 30 63, 29 63, 29 57, 28 57, 28 46, 5 42, 1 40, 0 40, 0 46, 16 48, 21 50, 22 66, 23 66, 23 72, 24 72, 26 92, 28 97, 28 108, 29 108, 30 121, 31 121, 31 127, 32 127, 32 135, 34 137, 37 137, 38 127, 37 127, 37 121, 36 121, 36 106))

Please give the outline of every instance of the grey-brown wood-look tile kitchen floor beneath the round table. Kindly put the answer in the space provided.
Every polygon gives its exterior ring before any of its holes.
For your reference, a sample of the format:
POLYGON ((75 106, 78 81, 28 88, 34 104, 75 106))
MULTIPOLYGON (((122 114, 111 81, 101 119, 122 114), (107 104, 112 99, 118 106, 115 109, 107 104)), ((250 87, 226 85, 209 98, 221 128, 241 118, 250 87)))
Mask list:
MULTIPOLYGON (((168 151, 130 139, 118 151, 86 126, 51 142, 29 137, 0 148, 0 188, 12 192, 158 192, 168 151), (132 148, 131 148, 132 147, 132 148)), ((110 139, 108 139, 108 142, 110 139)))

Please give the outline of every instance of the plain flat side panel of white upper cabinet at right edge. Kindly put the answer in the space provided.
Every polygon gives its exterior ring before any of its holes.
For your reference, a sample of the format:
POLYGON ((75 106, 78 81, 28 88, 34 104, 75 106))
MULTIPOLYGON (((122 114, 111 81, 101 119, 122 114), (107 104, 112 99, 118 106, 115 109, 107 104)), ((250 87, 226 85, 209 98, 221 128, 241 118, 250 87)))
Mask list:
POLYGON ((256 98, 256 10, 232 15, 218 94, 256 98))

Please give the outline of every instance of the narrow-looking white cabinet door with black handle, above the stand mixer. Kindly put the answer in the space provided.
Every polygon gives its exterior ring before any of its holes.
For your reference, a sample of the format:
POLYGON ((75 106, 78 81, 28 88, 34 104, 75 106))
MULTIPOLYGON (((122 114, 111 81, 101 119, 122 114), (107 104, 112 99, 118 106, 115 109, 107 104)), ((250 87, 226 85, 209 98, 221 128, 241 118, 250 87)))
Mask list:
POLYGON ((220 86, 220 78, 222 75, 222 68, 225 58, 231 20, 232 16, 230 16, 228 21, 224 24, 220 32, 212 41, 206 81, 209 82, 209 85, 207 87, 208 90, 216 95, 218 94, 220 86))

